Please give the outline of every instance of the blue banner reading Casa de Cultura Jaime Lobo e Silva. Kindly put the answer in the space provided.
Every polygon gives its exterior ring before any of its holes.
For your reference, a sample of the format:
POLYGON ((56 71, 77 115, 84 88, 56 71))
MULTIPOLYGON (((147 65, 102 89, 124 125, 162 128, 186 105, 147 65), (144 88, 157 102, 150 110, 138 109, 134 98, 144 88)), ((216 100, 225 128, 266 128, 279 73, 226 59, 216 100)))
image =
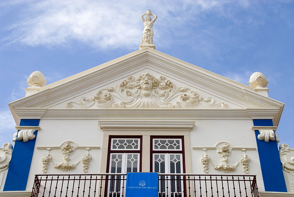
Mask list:
POLYGON ((126 197, 157 197, 158 173, 128 172, 126 181, 126 197))

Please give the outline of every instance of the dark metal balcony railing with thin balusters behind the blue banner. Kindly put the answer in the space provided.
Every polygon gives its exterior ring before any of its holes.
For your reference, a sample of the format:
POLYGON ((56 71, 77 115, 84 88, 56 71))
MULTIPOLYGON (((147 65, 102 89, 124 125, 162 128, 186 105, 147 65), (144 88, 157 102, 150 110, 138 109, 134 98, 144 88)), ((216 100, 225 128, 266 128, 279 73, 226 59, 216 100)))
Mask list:
MULTIPOLYGON (((31 197, 124 197, 125 187, 126 174, 39 174, 31 197)), ((258 197, 258 188, 255 175, 159 174, 158 196, 258 197)))

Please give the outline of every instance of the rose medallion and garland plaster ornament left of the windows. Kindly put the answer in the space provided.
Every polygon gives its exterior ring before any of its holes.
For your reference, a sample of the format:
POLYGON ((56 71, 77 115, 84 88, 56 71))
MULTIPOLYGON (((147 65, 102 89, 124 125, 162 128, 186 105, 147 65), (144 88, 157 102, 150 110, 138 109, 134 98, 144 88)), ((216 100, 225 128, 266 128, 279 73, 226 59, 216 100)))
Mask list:
POLYGON ((76 162, 75 164, 71 164, 71 163, 69 163, 69 161, 71 160, 69 156, 74 154, 74 152, 76 151, 76 147, 77 147, 77 145, 74 142, 65 142, 63 144, 63 146, 61 147, 61 152, 63 154, 65 154, 64 155, 64 161, 65 162, 62 162, 60 164, 55 164, 54 163, 54 168, 62 170, 62 171, 70 171, 72 169, 75 169, 76 165, 80 161, 76 162))

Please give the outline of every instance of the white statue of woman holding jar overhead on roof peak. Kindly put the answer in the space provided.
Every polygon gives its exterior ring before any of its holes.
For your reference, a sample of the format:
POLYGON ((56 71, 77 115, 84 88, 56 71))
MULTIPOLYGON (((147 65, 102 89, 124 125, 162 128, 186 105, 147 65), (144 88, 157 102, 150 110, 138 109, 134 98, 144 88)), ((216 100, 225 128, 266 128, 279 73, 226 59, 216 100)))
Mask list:
POLYGON ((143 37, 142 37, 142 44, 153 44, 153 23, 156 21, 157 16, 155 16, 154 14, 152 14, 151 10, 147 10, 145 14, 143 14, 142 16, 142 21, 144 23, 144 30, 143 30, 143 37), (146 17, 146 21, 144 19, 144 16, 146 17), (153 20, 151 20, 151 16, 154 17, 153 20))

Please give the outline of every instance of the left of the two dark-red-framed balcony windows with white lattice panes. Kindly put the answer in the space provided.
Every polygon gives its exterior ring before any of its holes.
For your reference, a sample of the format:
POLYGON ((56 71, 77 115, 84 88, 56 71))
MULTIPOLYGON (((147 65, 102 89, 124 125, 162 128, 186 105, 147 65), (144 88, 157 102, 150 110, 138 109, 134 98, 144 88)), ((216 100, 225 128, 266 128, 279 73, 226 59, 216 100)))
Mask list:
MULTIPOLYGON (((141 136, 109 136, 108 169, 109 173, 140 172, 141 169, 141 136)), ((108 181, 108 195, 122 196, 121 176, 112 176, 108 181)))

